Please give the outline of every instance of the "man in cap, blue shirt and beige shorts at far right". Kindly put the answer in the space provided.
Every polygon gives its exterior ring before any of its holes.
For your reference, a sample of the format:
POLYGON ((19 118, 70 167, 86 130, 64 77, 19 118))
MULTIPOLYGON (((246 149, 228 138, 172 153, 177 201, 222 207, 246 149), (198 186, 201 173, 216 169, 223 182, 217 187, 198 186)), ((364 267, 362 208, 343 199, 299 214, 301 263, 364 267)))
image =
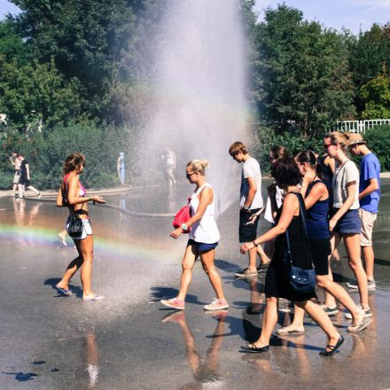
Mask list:
MULTIPOLYGON (((363 136, 357 133, 348 134, 348 149, 355 156, 362 156, 359 182, 359 214, 362 220, 360 246, 363 251, 364 268, 367 274, 369 290, 375 290, 374 250, 372 247, 372 230, 377 219, 380 198, 380 164, 377 156, 370 151, 363 136)), ((357 283, 347 283, 350 288, 357 288, 357 283)))

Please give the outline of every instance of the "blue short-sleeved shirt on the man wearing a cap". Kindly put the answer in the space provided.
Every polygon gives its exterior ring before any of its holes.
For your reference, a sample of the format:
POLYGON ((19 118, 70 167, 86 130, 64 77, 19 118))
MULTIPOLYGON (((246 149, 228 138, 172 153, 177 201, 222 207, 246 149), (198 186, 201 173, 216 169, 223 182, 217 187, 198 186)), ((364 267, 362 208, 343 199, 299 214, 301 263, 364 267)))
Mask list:
POLYGON ((374 153, 366 154, 360 163, 360 184, 359 193, 370 184, 370 179, 378 180, 378 190, 375 190, 363 199, 360 199, 360 207, 370 213, 378 213, 378 204, 380 198, 380 164, 374 153))

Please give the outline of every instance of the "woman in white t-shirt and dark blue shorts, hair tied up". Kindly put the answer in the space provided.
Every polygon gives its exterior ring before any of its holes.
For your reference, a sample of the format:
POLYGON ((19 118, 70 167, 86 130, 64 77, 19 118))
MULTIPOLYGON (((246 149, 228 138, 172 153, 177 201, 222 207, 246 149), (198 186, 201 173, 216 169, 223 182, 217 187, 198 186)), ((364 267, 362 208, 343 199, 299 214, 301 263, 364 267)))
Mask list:
MULTIPOLYGON (((324 137, 324 149, 329 157, 336 161, 336 169, 332 178, 333 205, 329 229, 331 230, 331 248, 337 248, 341 238, 346 246, 348 264, 354 271, 359 289, 360 306, 364 316, 372 313, 369 305, 367 276, 361 260, 360 233, 362 222, 359 216, 359 170, 354 161, 347 156, 347 134, 333 131, 324 137)), ((338 310, 333 296, 326 294, 327 308, 338 310)), ((346 315, 350 317, 349 314, 346 315)))

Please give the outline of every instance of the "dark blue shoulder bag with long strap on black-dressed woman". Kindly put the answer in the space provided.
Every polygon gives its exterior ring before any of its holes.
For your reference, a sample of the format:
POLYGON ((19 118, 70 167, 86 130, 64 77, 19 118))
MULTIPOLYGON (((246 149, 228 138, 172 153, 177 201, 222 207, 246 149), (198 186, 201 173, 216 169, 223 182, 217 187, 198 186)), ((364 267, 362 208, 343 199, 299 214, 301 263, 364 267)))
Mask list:
POLYGON ((300 195, 296 192, 295 195, 298 198, 298 201, 300 202, 300 220, 302 222, 303 231, 305 233, 305 239, 308 243, 308 252, 310 255, 310 269, 302 269, 300 267, 293 265, 292 260, 292 254, 291 254, 291 248, 290 248, 290 238, 288 235, 288 230, 285 230, 285 238, 287 242, 287 253, 286 257, 290 260, 291 263, 291 269, 290 269, 290 285, 292 286, 292 289, 297 292, 310 292, 313 291, 316 287, 316 270, 315 266, 313 264, 313 258, 311 255, 310 250, 310 243, 308 241, 308 228, 306 226, 306 218, 305 218, 305 210, 302 207, 302 199, 300 199, 300 195))

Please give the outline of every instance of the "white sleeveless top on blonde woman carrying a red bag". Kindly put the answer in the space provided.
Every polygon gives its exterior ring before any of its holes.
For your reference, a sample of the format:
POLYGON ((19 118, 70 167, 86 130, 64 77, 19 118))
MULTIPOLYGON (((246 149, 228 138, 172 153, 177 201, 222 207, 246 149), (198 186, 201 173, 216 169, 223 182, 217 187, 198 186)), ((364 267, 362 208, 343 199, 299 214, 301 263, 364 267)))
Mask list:
MULTIPOLYGON (((210 184, 206 183, 199 187, 197 191, 194 191, 190 201, 191 215, 197 212, 199 207, 198 195, 205 187, 210 187, 213 190, 213 187, 210 184)), ((206 207, 205 214, 203 214, 202 218, 191 226, 190 238, 195 240, 196 242, 214 244, 220 239, 219 230, 214 220, 214 205, 215 196, 213 197, 213 203, 206 207)))

